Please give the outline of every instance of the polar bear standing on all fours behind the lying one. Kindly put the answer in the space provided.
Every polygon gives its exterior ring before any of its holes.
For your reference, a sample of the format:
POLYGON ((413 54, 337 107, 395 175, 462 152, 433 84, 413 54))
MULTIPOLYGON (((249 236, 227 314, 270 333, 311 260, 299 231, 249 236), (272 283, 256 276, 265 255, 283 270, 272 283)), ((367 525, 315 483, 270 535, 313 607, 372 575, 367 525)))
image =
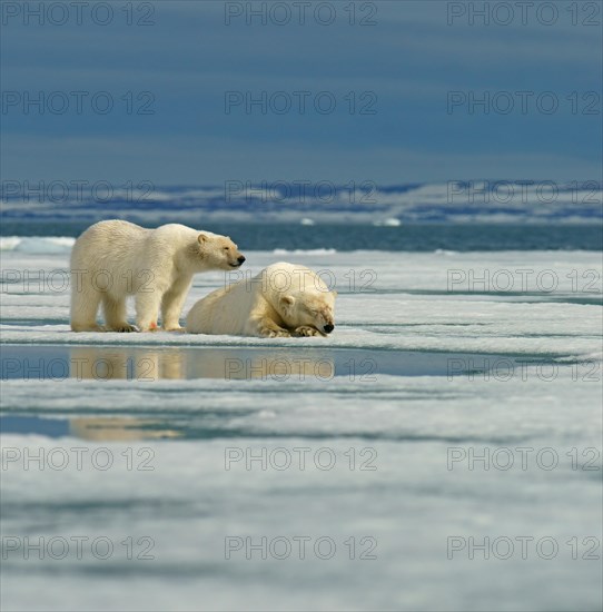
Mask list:
POLYGON ((71 329, 136 332, 126 320, 126 297, 136 296, 136 325, 181 330, 179 316, 192 275, 238 268, 245 257, 227 236, 178 224, 145 229, 123 220, 89 227, 71 251, 71 329), (106 327, 97 325, 102 303, 106 327))

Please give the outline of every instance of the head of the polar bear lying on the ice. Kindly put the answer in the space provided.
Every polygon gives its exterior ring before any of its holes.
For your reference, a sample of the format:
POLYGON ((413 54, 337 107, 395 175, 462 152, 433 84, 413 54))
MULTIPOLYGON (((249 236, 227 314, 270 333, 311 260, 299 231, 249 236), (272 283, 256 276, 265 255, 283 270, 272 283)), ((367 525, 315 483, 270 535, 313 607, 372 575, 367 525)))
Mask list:
POLYGON ((335 329, 337 292, 294 292, 281 295, 278 310, 288 327, 308 326, 322 334, 335 329))

